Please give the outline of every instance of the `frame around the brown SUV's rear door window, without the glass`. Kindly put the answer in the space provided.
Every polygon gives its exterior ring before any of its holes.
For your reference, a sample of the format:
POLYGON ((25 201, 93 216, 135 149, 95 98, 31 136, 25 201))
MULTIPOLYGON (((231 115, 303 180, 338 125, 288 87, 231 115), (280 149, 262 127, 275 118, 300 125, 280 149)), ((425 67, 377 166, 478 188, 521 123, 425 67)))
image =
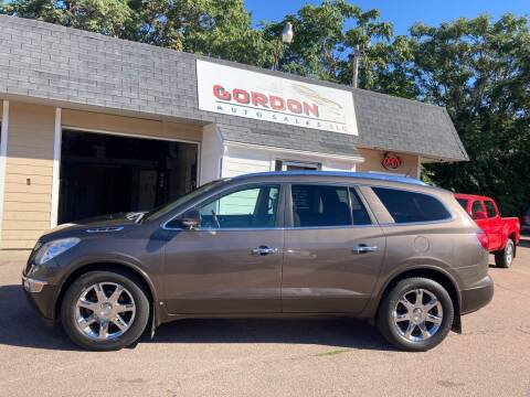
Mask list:
POLYGON ((358 228, 358 227, 379 227, 380 224, 375 218, 374 214, 370 205, 368 204, 367 200, 362 195, 361 191, 359 190, 359 183, 340 183, 340 182, 322 182, 322 181, 290 181, 285 185, 285 207, 284 207, 284 224, 286 229, 294 229, 294 230, 301 230, 301 229, 337 229, 337 228, 358 228), (292 186, 293 185, 319 185, 319 186, 333 186, 333 187, 343 187, 348 191, 348 206, 350 208, 350 225, 335 225, 335 226, 295 226, 294 222, 294 207, 293 207, 293 194, 292 194, 292 186), (353 190, 359 197, 360 203, 367 210, 368 216, 370 217, 370 224, 367 225, 354 225, 353 224, 353 214, 352 214, 352 206, 351 206, 351 192, 353 190))

